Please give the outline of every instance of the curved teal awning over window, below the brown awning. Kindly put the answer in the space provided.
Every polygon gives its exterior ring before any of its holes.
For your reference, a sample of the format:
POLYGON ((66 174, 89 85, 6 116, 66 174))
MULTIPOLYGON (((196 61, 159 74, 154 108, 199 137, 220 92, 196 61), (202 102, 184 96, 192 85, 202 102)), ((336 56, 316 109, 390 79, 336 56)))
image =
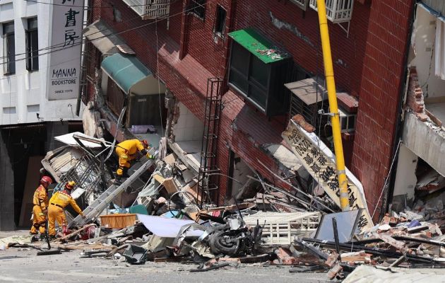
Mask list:
POLYGON ((105 58, 102 69, 125 93, 129 93, 132 86, 152 75, 136 56, 121 53, 105 58))

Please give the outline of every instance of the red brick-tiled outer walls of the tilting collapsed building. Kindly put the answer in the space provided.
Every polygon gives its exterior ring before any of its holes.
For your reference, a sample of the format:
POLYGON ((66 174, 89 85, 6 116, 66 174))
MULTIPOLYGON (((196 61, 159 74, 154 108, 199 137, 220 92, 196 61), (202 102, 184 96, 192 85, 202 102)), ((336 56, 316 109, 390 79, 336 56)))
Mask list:
MULTIPOLYGON (((402 0, 364 2, 366 4, 355 1, 348 37, 338 25, 329 23, 329 28, 337 86, 360 97, 352 171, 362 181, 369 207, 373 209, 391 158, 412 4, 405 4, 407 1, 402 0)), ((117 23, 113 20, 112 9, 95 9, 95 18, 107 21, 114 30, 124 31, 146 25, 120 36, 136 51, 141 62, 201 119, 206 79, 227 74, 229 39, 226 37, 225 41, 214 42, 216 4, 227 9, 226 25, 231 30, 254 26, 290 52, 301 67, 313 73, 323 73, 317 14, 312 9, 304 13, 287 0, 209 0, 205 21, 186 16, 186 27, 182 29, 183 17, 172 16, 168 30, 166 21, 158 23, 158 47, 154 24, 136 18, 136 13, 121 0, 95 1, 98 6, 100 3, 107 6, 112 3, 121 13, 124 22, 117 23), (129 21, 131 18, 136 19, 129 21), (182 33, 184 30, 186 33, 182 33), (180 60, 178 54, 182 37, 187 45, 184 50, 186 56, 180 60), (158 50, 159 74, 156 64, 158 50)), ((182 11, 183 6, 183 1, 174 2, 171 15, 182 11)), ((234 93, 226 93, 218 148, 223 173, 227 174, 230 147, 266 178, 273 180, 256 160, 258 158, 272 170, 277 168, 261 145, 280 143, 280 132, 284 127, 283 117, 268 120, 245 105, 234 93)), ((348 150, 352 151, 352 146, 345 148, 348 150)), ((221 178, 220 187, 225 189, 225 184, 225 178, 221 178)))

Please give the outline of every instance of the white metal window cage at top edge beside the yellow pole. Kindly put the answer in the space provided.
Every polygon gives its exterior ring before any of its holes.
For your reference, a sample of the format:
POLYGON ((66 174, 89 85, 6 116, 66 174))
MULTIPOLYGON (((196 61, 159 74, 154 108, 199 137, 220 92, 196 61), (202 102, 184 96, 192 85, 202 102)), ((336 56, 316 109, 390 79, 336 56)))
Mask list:
MULTIPOLYGON (((317 0, 310 0, 309 6, 317 11, 317 0)), ((351 21, 354 0, 325 0, 326 17, 333 23, 345 23, 351 21)))

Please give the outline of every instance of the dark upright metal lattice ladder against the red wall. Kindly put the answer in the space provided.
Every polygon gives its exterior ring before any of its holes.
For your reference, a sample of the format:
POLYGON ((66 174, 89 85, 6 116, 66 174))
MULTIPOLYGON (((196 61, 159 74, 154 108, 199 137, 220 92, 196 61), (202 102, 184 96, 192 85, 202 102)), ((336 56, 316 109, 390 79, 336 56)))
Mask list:
POLYGON ((204 114, 204 131, 201 147, 201 167, 198 173, 198 199, 203 204, 219 201, 219 173, 217 163, 218 134, 221 114, 223 80, 207 80, 206 112, 204 114))

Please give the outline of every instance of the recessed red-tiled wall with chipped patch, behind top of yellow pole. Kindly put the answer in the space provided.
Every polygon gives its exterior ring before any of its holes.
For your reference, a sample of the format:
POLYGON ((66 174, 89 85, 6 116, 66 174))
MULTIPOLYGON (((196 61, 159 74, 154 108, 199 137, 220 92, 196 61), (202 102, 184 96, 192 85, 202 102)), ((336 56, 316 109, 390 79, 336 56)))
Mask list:
MULTIPOLYGON (((323 74, 323 57, 319 39, 319 21, 316 11, 309 8, 305 13, 290 1, 237 1, 236 28, 253 26, 274 42, 285 47, 297 64, 316 74, 323 74), (278 29, 271 15, 281 24, 289 23, 296 28, 278 29), (319 55, 317 56, 317 52, 319 55)), ((338 25, 329 23, 332 56, 338 88, 353 96, 360 92, 363 53, 367 39, 369 5, 355 3, 347 37, 338 25)))

